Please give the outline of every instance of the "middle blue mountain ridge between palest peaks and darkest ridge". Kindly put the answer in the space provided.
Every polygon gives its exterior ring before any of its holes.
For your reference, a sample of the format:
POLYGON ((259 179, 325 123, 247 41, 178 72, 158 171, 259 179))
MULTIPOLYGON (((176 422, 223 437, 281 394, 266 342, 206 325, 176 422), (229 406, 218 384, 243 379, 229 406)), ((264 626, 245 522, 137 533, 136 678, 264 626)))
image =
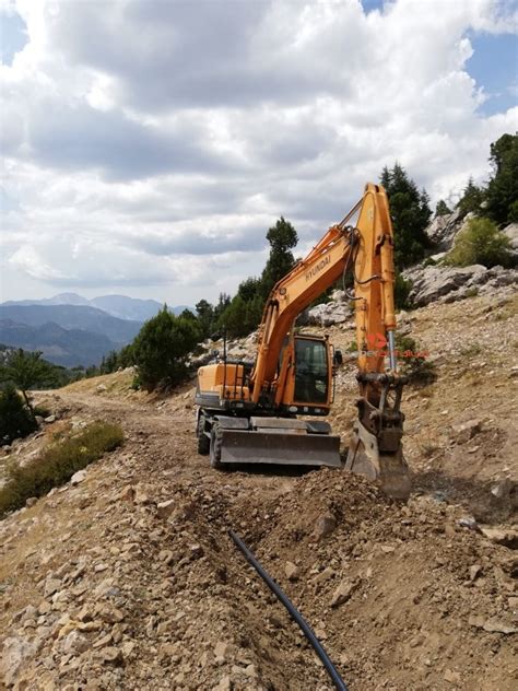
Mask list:
MULTIPOLYGON (((96 307, 82 305, 0 305, 0 319, 32 327, 54 323, 67 330, 102 333, 118 344, 133 340, 142 326, 141 321, 119 319, 96 307)), ((1 335, 0 341, 5 342, 1 335)))

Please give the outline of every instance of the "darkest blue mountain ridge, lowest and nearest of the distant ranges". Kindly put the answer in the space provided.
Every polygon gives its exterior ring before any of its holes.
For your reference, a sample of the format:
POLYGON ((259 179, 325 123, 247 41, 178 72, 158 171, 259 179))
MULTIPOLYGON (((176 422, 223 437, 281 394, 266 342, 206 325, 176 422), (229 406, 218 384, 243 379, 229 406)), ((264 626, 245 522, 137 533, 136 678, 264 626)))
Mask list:
POLYGON ((98 364, 103 355, 120 348, 94 331, 63 329, 54 323, 28 326, 12 319, 0 319, 0 340, 8 347, 42 351, 45 360, 67 367, 98 364))

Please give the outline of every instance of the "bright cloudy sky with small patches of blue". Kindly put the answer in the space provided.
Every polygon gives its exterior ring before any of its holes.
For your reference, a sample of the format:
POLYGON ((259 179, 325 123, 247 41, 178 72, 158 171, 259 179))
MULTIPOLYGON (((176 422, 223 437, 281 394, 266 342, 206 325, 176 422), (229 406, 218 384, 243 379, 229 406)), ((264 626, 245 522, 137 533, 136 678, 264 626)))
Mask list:
POLYGON ((518 130, 515 0, 0 0, 0 301, 217 302, 400 162, 432 203, 518 130))

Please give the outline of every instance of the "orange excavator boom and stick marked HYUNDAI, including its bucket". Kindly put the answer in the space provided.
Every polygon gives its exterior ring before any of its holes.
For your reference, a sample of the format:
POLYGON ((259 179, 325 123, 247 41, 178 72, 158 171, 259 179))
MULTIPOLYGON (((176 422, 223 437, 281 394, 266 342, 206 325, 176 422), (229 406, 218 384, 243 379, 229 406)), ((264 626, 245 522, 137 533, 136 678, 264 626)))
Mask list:
POLYGON ((403 378, 397 372, 393 304, 393 233, 381 186, 367 184, 362 199, 329 229, 308 256, 274 285, 259 330, 259 348, 250 375, 254 402, 283 401, 290 359, 279 356, 297 315, 348 270, 354 277, 358 348, 358 419, 346 468, 378 479, 397 499, 410 492, 402 456, 403 378), (351 220, 356 216, 356 223, 351 220), (388 366, 386 360, 388 359, 388 366))

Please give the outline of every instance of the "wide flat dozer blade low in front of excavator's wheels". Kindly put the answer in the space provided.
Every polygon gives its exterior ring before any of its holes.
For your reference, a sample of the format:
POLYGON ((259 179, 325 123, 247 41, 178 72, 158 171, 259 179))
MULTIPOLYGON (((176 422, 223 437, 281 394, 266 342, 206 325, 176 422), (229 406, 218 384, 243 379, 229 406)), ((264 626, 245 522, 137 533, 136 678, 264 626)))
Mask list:
POLYGON ((279 464, 341 468, 340 437, 223 430, 222 464, 279 464))

